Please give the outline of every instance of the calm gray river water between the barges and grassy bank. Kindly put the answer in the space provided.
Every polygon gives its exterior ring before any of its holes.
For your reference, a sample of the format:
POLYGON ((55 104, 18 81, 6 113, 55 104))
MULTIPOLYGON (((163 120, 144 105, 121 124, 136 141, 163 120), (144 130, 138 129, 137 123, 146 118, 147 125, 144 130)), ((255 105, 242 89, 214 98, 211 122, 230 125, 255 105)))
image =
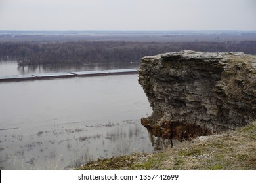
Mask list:
MULTIPOLYGON (((116 69, 116 68, 115 68, 116 69)), ((152 152, 137 75, 0 83, 0 168, 72 169, 152 152)))

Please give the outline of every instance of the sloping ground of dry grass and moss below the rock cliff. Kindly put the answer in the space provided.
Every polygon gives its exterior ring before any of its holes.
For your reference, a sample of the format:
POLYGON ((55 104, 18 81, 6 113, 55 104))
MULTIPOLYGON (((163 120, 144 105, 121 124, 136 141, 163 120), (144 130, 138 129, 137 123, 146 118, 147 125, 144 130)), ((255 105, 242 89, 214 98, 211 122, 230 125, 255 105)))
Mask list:
POLYGON ((256 122, 153 154, 99 159, 77 169, 256 169, 256 122))

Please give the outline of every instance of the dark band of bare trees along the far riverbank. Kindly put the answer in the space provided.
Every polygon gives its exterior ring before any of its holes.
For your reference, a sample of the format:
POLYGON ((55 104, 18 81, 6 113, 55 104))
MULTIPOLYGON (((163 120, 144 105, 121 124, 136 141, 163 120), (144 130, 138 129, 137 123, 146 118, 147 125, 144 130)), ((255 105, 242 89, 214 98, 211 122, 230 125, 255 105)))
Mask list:
POLYGON ((244 52, 256 55, 256 41, 223 42, 0 42, 0 57, 16 58, 18 65, 106 63, 139 61, 163 52, 244 52))

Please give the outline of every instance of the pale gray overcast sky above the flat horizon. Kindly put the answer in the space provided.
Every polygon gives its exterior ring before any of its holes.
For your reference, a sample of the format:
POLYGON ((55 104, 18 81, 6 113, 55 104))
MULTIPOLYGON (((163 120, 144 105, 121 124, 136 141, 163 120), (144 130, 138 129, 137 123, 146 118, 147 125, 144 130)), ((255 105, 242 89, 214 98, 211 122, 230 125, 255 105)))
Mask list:
POLYGON ((0 0, 0 30, 256 30, 256 0, 0 0))

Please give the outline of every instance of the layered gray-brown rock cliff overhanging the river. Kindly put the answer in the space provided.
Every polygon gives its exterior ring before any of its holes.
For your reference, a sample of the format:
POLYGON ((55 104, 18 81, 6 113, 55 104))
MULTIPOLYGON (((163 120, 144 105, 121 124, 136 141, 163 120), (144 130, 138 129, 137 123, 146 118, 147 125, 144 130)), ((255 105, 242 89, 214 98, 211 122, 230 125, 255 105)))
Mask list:
POLYGON ((139 84, 156 137, 190 139, 249 124, 256 117, 256 56, 172 52, 141 59, 139 84))

